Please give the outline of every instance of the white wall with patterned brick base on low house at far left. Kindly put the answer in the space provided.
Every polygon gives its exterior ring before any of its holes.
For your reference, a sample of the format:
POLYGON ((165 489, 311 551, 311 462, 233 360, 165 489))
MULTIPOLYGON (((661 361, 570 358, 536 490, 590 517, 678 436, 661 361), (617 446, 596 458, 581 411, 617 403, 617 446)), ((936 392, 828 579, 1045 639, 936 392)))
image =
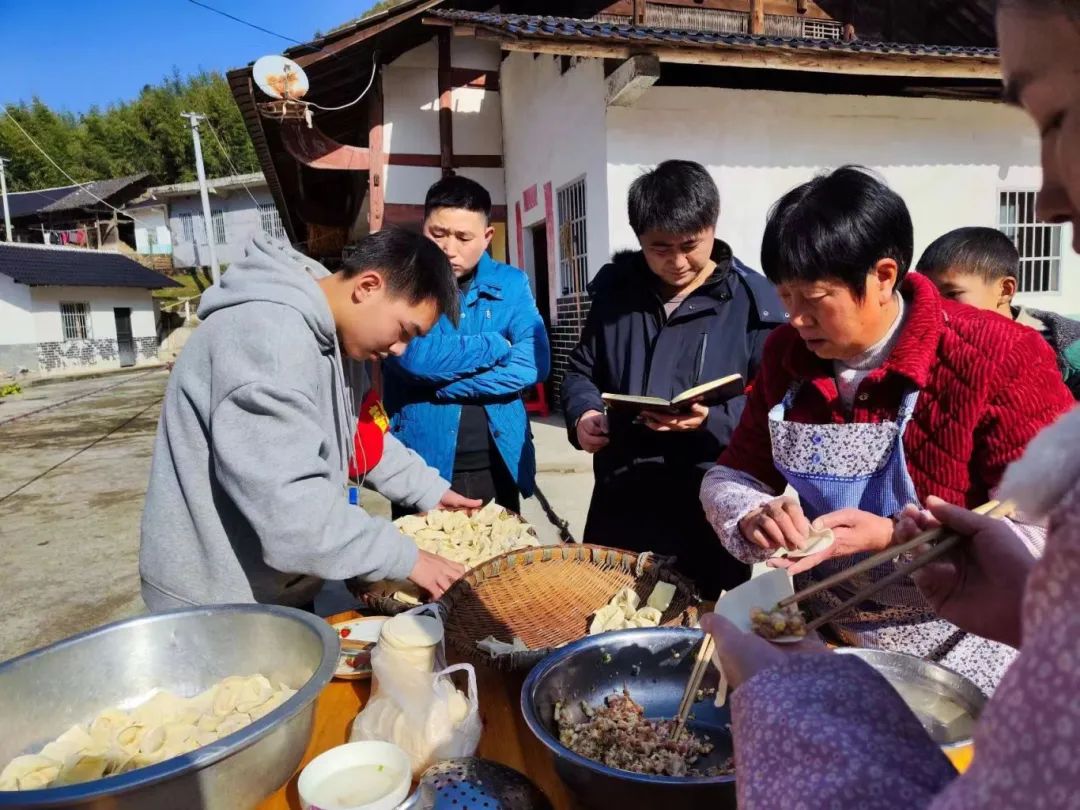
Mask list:
POLYGON ((131 309, 136 362, 152 361, 158 355, 153 298, 149 289, 32 287, 30 307, 38 343, 38 360, 43 374, 72 369, 119 368, 114 308, 131 309), (65 339, 60 315, 62 303, 90 305, 89 338, 65 339))

